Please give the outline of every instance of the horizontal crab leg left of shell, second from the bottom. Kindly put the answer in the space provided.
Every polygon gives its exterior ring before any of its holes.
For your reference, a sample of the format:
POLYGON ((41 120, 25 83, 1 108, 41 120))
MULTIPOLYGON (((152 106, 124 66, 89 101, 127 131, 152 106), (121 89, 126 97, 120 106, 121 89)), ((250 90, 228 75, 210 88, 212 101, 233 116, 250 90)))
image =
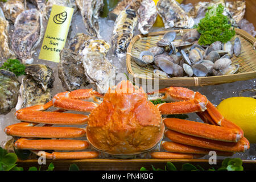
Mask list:
POLYGON ((89 142, 83 140, 63 139, 36 139, 20 138, 15 142, 15 147, 23 150, 84 150, 89 142))

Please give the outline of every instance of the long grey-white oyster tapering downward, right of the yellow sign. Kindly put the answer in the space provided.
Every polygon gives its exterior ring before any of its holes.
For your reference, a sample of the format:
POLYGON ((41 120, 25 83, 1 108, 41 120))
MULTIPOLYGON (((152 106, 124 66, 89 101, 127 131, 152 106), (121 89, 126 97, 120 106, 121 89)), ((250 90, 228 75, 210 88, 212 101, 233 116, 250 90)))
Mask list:
POLYGON ((100 38, 100 30, 98 26, 98 18, 100 11, 104 6, 103 0, 76 0, 77 6, 79 7, 82 15, 82 20, 86 31, 90 36, 100 38))

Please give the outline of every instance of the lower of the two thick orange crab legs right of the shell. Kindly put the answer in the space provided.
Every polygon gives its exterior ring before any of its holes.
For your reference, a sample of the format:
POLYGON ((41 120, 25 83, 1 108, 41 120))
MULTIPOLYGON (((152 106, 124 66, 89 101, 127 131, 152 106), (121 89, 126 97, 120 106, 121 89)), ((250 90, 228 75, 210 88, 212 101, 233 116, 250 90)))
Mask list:
POLYGON ((243 137, 239 142, 222 142, 217 140, 210 140, 191 135, 185 135, 176 131, 166 130, 164 135, 173 142, 188 144, 201 148, 209 148, 213 150, 226 151, 226 152, 244 152, 250 148, 248 140, 243 137))

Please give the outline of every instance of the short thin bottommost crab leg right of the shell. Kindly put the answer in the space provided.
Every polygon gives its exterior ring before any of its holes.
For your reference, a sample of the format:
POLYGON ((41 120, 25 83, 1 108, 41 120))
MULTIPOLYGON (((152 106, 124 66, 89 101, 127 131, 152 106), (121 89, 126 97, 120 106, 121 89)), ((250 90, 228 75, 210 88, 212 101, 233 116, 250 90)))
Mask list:
POLYGON ((204 156, 200 154, 181 154, 173 152, 152 152, 150 155, 153 159, 196 159, 204 156))

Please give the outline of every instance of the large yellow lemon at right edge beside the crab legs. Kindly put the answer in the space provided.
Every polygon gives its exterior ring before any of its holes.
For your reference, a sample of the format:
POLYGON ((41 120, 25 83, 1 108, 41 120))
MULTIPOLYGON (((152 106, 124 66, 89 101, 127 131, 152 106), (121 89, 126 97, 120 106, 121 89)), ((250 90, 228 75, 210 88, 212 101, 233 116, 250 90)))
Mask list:
POLYGON ((217 106, 217 109, 226 119, 241 127, 249 142, 256 143, 256 99, 227 98, 217 106))

